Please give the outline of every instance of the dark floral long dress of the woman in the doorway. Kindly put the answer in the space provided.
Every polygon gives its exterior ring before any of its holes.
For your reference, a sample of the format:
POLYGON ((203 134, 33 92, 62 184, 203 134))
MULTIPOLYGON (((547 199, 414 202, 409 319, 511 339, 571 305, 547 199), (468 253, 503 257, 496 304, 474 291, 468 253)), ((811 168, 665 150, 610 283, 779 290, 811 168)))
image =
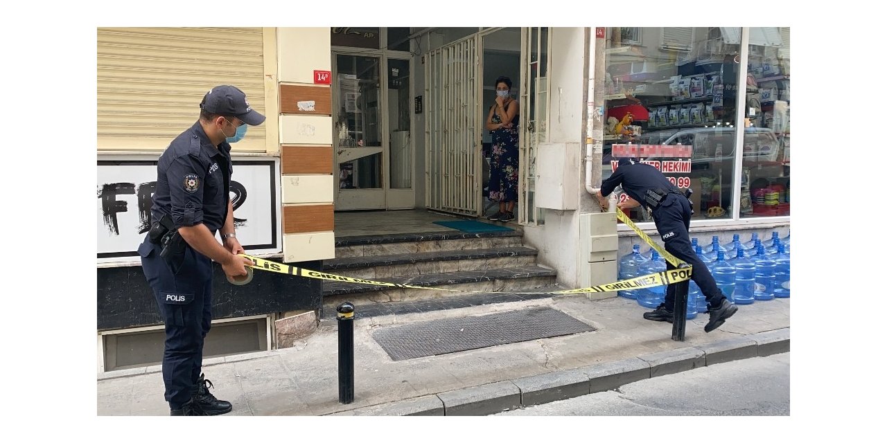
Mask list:
MULTIPOLYGON (((490 199, 491 201, 517 201, 517 122, 518 114, 511 120, 511 128, 498 128, 490 131, 492 150, 490 155, 490 199)), ((493 112, 493 123, 501 123, 502 118, 493 112)))

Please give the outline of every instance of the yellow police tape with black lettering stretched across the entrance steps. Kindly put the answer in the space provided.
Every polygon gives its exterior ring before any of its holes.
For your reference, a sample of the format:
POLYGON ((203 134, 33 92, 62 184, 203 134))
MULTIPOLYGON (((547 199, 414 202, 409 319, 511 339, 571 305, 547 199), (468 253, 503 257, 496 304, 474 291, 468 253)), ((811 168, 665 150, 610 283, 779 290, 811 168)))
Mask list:
MULTIPOLYGON (((653 240, 650 239, 646 234, 644 234, 638 227, 622 212, 621 209, 616 208, 616 217, 623 221, 630 228, 634 229, 634 231, 640 236, 641 239, 644 240, 650 247, 654 248, 660 255, 662 255, 665 260, 671 262, 674 266, 679 266, 684 261, 679 260, 677 257, 671 255, 665 251, 661 246, 656 245, 653 240)), ((430 291, 452 291, 452 292, 475 292, 475 293, 489 293, 490 291, 466 291, 459 289, 447 289, 447 288, 428 288, 425 286, 415 286, 412 284, 397 284, 397 283, 387 283, 387 282, 377 282, 374 280, 366 280, 364 278, 354 278, 349 276, 337 276, 335 274, 329 274, 326 272, 314 271, 311 269, 299 268, 297 266, 286 265, 283 263, 278 263, 277 261, 265 260, 259 257, 254 257, 248 254, 240 254, 242 257, 246 257, 249 260, 253 261, 253 266, 250 268, 255 268, 263 271, 269 272, 277 272, 279 274, 287 274, 290 276, 303 276, 308 278, 317 278, 320 280, 332 280, 335 282, 344 282, 344 283, 356 283, 356 284, 374 284, 378 286, 390 286, 394 288, 411 288, 411 289, 425 289, 430 291)), ((248 265, 247 265, 248 266, 248 265)), ((648 274, 646 276, 639 276, 630 278, 628 280, 620 280, 616 283, 610 284, 599 284, 597 286, 590 286, 587 288, 579 288, 579 289, 570 289, 566 291, 548 291, 548 292, 523 292, 523 294, 578 294, 585 292, 609 292, 609 291, 625 291, 625 290, 634 290, 634 289, 642 289, 642 288, 652 288, 655 286, 661 286, 663 284, 673 284, 678 282, 683 282, 685 280, 690 279, 690 275, 693 272, 692 267, 688 268, 678 268, 678 269, 670 269, 664 270, 662 272, 657 272, 655 274, 648 274)))

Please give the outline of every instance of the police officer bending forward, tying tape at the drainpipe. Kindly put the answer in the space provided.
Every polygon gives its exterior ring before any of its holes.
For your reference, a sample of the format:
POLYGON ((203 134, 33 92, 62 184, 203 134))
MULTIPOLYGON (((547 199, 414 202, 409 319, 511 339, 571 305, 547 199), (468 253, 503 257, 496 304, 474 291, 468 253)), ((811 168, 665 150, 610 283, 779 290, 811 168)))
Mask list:
MULTIPOLYGON (((640 163, 635 159, 620 159, 619 166, 613 171, 607 180, 600 184, 600 190, 595 195, 600 207, 607 210, 609 202, 607 196, 622 185, 622 189, 632 199, 619 203, 619 208, 627 209, 644 204, 653 212, 653 221, 656 230, 662 236, 665 243, 665 251, 668 251, 680 260, 693 266, 691 278, 699 286, 699 290, 705 295, 705 301, 709 310, 709 323, 705 325, 705 331, 716 330, 724 324, 727 318, 734 315, 738 308, 726 299, 724 293, 718 289, 714 277, 705 267, 702 260, 696 256, 690 243, 690 216, 693 214, 692 206, 687 195, 680 192, 668 178, 658 169, 650 165, 640 163)), ((675 266, 666 260, 666 268, 674 269, 675 266)), ((656 322, 674 321, 674 291, 675 285, 669 284, 665 291, 664 302, 655 308, 653 312, 644 313, 644 318, 656 322)))

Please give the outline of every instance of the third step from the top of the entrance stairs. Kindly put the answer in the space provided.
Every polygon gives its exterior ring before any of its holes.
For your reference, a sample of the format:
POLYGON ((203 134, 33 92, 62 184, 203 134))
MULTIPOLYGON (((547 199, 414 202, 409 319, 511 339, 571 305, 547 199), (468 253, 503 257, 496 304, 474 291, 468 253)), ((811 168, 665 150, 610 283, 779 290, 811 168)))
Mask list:
POLYGON ((390 301, 418 301, 440 299, 484 292, 529 291, 533 288, 555 284, 557 272, 538 265, 517 268, 491 268, 473 271, 443 272, 421 276, 393 276, 385 283, 412 284, 454 291, 435 291, 415 288, 397 288, 373 284, 340 283, 324 281, 324 313, 334 311, 340 303, 348 301, 356 307, 390 301))

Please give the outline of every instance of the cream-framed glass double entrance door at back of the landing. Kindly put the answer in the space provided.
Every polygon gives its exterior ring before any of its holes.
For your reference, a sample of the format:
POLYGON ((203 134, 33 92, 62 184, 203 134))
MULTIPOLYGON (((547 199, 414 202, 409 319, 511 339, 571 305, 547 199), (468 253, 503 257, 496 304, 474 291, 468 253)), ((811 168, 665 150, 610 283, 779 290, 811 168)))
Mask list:
POLYGON ((334 55, 337 210, 415 206, 410 60, 334 55))

